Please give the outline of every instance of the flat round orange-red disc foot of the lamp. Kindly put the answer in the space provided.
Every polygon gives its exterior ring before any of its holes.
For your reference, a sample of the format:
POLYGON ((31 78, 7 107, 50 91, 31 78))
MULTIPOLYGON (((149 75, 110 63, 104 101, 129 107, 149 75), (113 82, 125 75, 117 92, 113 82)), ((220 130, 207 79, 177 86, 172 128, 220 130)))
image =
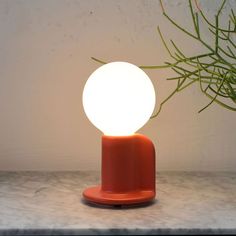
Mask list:
POLYGON ((114 193, 102 191, 101 186, 85 189, 84 198, 92 203, 103 205, 132 205, 150 202, 155 198, 151 190, 133 191, 127 193, 114 193))

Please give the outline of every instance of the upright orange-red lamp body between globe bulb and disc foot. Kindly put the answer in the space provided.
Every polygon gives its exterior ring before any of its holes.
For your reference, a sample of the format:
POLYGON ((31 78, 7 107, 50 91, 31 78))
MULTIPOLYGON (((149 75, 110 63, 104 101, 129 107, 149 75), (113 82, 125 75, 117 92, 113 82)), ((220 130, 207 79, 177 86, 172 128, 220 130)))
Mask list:
POLYGON ((102 190, 155 190, 155 149, 144 135, 102 137, 102 190))

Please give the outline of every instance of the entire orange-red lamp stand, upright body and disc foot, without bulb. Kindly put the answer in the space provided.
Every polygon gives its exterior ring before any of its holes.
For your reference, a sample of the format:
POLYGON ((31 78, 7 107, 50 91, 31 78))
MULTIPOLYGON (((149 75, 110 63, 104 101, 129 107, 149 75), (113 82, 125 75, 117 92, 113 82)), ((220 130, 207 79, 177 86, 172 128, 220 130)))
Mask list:
POLYGON ((144 135, 102 137, 102 182, 83 192, 99 204, 127 205, 155 198, 155 148, 144 135))

